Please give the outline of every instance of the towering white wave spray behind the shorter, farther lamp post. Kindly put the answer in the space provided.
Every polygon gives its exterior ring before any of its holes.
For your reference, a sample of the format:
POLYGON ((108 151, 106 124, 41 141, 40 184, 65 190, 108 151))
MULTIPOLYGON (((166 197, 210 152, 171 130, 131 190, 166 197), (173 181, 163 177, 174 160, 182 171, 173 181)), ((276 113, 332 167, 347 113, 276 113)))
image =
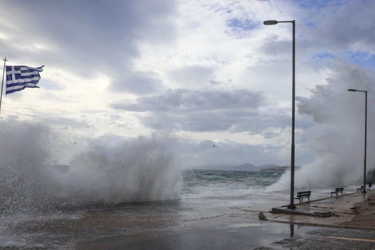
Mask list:
MULTIPOLYGON (((316 85, 311 96, 296 98, 298 113, 315 122, 314 126, 303 128, 308 138, 306 144, 296 138, 296 150, 308 147, 316 156, 315 162, 296 171, 296 189, 363 184, 365 93, 349 92, 349 88, 368 91, 366 170, 374 170, 374 70, 352 64, 336 65, 326 81, 327 84, 316 85)), ((286 189, 290 189, 290 172, 268 188, 286 189)))

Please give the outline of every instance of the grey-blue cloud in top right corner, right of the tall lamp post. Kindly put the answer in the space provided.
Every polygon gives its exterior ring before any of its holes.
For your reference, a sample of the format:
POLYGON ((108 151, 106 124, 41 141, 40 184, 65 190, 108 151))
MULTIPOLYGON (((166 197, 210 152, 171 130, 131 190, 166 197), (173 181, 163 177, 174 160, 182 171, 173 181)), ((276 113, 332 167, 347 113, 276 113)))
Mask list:
POLYGON ((296 49, 317 55, 330 53, 350 57, 348 51, 374 54, 374 1, 346 1, 327 4, 311 16, 296 20, 296 49))

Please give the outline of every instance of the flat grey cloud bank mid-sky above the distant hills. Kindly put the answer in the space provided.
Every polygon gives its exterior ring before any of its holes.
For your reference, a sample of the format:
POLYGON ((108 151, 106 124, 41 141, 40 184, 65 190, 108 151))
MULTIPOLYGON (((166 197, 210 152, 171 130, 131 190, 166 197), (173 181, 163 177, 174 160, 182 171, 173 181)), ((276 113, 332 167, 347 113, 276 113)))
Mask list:
POLYGON ((172 131, 242 132, 251 129, 249 123, 257 124, 254 127, 258 130, 261 124, 257 121, 260 118, 258 108, 263 103, 264 97, 260 93, 248 90, 177 89, 139 97, 134 104, 112 103, 111 107, 140 113, 138 117, 146 127, 172 131))

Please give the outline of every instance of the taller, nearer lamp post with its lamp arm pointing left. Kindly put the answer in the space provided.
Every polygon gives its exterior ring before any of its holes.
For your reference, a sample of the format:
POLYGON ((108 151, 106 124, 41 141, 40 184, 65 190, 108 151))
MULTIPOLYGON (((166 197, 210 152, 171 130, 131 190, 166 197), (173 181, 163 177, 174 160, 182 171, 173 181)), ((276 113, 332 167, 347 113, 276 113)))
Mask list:
POLYGON ((274 25, 279 22, 291 22, 293 24, 293 80, 292 80, 292 147, 291 147, 291 164, 290 164, 290 204, 288 208, 296 209, 294 205, 294 110, 296 100, 296 21, 276 21, 268 20, 264 21, 265 25, 274 25))

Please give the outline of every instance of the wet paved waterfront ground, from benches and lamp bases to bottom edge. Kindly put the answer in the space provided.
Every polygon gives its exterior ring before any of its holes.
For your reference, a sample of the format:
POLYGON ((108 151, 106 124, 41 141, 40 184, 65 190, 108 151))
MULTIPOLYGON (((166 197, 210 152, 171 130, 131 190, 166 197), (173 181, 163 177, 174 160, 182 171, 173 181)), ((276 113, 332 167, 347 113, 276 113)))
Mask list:
POLYGON ((375 228, 340 225, 354 217, 354 204, 374 192, 297 203, 295 210, 276 207, 264 213, 267 220, 258 219, 259 211, 243 210, 191 223, 175 234, 104 249, 375 250, 375 228))

